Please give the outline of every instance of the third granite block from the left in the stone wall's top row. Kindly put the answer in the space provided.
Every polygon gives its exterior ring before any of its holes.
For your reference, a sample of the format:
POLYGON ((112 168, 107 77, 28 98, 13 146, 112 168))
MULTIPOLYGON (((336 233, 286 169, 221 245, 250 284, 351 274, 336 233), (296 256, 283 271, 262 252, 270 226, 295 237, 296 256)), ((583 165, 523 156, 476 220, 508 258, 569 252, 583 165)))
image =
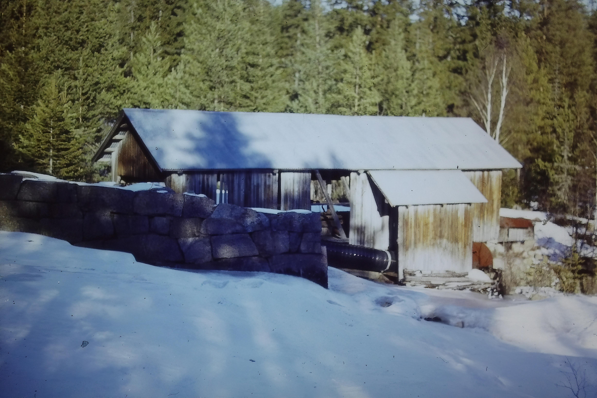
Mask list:
POLYGON ((77 186, 79 207, 83 211, 133 212, 134 192, 101 186, 77 186))

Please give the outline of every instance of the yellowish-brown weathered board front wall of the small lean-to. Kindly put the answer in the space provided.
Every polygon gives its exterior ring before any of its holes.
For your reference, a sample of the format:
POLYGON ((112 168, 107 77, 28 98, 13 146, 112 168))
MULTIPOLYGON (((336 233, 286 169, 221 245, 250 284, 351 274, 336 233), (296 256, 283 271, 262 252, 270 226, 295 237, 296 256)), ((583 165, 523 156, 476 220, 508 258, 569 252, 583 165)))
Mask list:
POLYGON ((472 269, 471 205, 398 207, 398 266, 421 271, 472 269))

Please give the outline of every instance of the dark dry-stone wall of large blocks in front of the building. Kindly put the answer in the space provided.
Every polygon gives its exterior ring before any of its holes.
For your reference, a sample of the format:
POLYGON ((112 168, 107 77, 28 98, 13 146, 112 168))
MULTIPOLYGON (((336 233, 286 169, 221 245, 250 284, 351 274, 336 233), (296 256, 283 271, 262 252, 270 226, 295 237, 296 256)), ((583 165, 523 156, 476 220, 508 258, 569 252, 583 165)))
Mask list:
POLYGON ((0 174, 0 229, 202 270, 291 274, 327 287, 319 213, 261 213, 198 195, 0 174))

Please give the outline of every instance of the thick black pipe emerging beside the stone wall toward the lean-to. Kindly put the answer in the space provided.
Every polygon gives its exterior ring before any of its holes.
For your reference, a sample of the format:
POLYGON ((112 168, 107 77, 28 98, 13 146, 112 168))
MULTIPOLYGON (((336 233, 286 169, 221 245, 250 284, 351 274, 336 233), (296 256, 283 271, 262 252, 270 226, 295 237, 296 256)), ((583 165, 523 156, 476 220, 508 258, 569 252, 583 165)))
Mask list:
POLYGON ((396 272, 396 259, 391 252, 364 246, 322 240, 328 255, 328 264, 350 270, 396 272))

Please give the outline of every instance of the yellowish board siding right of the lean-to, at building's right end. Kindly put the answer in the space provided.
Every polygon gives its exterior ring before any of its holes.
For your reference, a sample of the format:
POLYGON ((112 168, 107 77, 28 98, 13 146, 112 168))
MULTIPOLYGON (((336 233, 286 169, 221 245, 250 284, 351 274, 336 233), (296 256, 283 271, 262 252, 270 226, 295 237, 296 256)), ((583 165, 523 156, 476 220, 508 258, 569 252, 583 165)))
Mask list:
POLYGON ((487 203, 473 203, 473 242, 497 240, 500 235, 501 170, 465 171, 487 203))

